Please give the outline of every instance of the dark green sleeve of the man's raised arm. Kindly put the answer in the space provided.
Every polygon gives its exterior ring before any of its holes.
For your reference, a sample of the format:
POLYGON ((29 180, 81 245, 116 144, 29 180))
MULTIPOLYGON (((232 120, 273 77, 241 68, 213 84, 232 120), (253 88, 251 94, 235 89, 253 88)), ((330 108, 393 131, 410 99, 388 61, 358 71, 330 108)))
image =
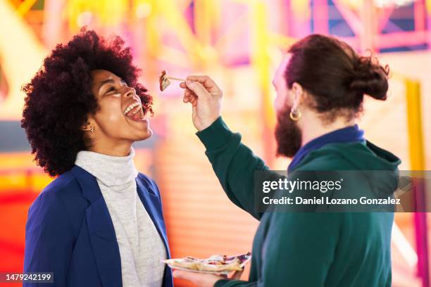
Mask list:
POLYGON ((232 203, 260 220, 263 210, 257 210, 254 202, 255 172, 266 171, 271 177, 280 175, 270 172, 265 162, 241 143, 241 135, 231 132, 221 117, 196 135, 206 147, 205 154, 232 203))

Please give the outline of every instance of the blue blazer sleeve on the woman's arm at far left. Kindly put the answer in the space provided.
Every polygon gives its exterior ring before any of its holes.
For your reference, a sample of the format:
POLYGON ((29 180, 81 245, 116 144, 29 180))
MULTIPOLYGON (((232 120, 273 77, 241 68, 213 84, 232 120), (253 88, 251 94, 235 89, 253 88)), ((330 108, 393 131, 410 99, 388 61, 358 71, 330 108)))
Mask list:
MULTIPOLYGON (((54 284, 49 286, 65 286, 73 242, 65 204, 53 191, 42 192, 30 207, 25 224, 24 272, 53 272, 54 284)), ((46 286, 46 283, 23 286, 46 286)))

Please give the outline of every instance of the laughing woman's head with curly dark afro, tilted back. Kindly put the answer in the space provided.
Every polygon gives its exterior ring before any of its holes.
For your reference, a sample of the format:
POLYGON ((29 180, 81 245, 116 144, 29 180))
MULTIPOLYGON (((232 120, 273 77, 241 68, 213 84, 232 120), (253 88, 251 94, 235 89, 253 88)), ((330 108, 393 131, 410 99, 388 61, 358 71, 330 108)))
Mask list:
POLYGON ((151 96, 137 82, 139 68, 123 45, 120 37, 77 34, 58 45, 23 87, 23 128, 36 162, 51 176, 70 170, 78 151, 100 147, 104 153, 127 155, 131 141, 151 136, 147 121, 132 125, 122 116, 121 109, 132 101, 142 103, 144 114, 153 112, 151 96))

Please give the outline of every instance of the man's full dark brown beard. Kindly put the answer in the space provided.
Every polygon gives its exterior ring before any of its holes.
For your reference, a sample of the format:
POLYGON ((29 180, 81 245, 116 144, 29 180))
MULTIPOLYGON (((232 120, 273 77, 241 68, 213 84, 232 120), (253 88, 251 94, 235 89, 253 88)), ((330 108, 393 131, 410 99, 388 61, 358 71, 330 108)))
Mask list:
POLYGON ((297 122, 290 118, 291 106, 285 105, 277 113, 277 125, 275 126, 275 141, 277 141, 277 155, 293 158, 302 144, 301 129, 297 122))

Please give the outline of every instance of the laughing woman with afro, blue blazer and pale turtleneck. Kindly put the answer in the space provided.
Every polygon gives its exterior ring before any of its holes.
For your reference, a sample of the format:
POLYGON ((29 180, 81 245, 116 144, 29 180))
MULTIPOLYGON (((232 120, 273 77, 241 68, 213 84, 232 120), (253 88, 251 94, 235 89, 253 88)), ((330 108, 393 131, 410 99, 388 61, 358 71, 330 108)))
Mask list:
POLYGON ((24 271, 53 286, 173 285, 160 193, 133 164, 152 134, 138 73, 120 37, 82 30, 23 88, 22 127, 56 177, 28 212, 24 271))

